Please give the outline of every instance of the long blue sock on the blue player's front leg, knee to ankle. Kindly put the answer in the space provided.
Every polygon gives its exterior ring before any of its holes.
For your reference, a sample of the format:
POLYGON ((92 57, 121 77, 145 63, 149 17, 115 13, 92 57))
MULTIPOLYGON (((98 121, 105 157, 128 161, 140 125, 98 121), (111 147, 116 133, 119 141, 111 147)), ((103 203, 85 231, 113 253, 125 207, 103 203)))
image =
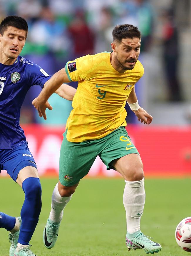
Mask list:
POLYGON ((29 244, 41 212, 41 183, 38 178, 30 177, 24 180, 22 187, 25 200, 21 209, 22 223, 18 242, 29 244))

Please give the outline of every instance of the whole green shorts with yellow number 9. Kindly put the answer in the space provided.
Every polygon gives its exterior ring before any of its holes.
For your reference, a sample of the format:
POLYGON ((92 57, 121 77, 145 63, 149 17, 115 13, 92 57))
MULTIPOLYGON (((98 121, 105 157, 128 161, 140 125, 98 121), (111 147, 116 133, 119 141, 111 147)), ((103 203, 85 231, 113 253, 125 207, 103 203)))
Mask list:
POLYGON ((64 186, 75 185, 86 176, 97 156, 109 170, 114 169, 113 160, 139 154, 124 126, 103 138, 76 143, 67 141, 66 133, 63 133, 59 162, 59 181, 64 186))

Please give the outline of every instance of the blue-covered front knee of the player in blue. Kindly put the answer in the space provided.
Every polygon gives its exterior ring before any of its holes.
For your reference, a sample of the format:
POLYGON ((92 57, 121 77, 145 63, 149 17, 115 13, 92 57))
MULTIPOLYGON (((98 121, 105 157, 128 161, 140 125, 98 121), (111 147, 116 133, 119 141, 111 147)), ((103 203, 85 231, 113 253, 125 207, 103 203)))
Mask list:
POLYGON ((42 189, 39 178, 27 178, 26 180, 24 180, 22 187, 25 193, 25 198, 41 200, 42 189))

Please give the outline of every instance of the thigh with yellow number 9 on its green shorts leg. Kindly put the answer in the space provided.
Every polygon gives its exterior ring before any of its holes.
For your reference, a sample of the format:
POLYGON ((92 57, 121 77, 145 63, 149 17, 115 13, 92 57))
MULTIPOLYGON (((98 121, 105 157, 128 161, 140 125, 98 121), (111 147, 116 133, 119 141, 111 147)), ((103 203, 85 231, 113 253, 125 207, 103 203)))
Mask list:
POLYGON ((108 170, 115 169, 123 175, 128 172, 128 169, 132 169, 135 162, 138 161, 142 163, 140 155, 128 136, 125 127, 121 126, 106 137, 105 148, 101 151, 99 156, 108 170), (132 161, 132 159, 134 161, 132 161))

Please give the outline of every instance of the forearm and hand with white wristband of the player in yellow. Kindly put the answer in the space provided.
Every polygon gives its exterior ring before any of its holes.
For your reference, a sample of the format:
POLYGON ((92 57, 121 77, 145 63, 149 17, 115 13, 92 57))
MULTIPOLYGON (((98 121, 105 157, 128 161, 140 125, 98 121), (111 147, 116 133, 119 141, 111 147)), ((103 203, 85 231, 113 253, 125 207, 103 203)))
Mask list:
POLYGON ((132 91, 130 92, 127 103, 129 104, 131 110, 138 117, 138 121, 146 124, 150 124, 152 122, 153 117, 138 104, 135 87, 133 87, 132 91))

